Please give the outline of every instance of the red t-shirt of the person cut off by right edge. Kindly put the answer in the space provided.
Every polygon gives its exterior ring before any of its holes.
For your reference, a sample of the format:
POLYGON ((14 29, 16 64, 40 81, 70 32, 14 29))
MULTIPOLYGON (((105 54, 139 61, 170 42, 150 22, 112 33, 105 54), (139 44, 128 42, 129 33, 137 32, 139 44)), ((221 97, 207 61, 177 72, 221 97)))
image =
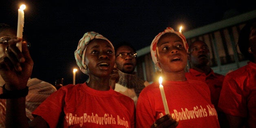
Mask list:
POLYGON ((218 107, 229 115, 246 117, 256 128, 256 64, 248 62, 225 76, 218 107))

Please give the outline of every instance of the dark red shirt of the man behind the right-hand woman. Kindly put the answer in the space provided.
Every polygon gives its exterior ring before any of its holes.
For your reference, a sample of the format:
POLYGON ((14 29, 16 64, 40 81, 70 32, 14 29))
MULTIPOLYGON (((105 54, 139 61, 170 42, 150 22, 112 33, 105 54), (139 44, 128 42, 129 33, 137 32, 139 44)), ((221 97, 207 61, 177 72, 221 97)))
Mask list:
POLYGON ((205 73, 196 71, 193 68, 190 68, 189 72, 185 73, 185 76, 187 79, 194 79, 205 82, 210 88, 212 104, 214 104, 215 108, 217 108, 218 99, 221 94, 221 88, 225 76, 214 73, 212 70, 208 75, 205 75, 205 73))

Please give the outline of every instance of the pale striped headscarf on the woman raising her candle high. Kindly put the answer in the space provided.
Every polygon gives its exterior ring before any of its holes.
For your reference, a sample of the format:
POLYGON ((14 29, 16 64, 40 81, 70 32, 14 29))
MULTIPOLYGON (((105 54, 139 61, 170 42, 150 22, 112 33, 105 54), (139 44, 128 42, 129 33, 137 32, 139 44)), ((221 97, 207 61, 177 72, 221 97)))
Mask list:
POLYGON ((75 60, 77 65, 79 66, 80 70, 88 75, 88 70, 84 68, 85 66, 85 52, 87 45, 90 43, 91 40, 93 39, 103 39, 109 42, 109 44, 112 46, 114 49, 113 44, 105 38, 103 35, 100 35, 99 33, 96 33, 94 31, 90 31, 84 34, 84 36, 79 40, 77 50, 75 51, 75 60))

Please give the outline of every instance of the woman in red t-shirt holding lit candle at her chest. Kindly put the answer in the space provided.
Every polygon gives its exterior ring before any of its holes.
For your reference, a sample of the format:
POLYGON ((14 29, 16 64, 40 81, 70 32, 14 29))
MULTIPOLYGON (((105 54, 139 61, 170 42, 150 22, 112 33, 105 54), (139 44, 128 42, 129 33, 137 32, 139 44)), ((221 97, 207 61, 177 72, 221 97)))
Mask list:
POLYGON ((168 27, 155 36, 150 51, 161 70, 168 110, 163 105, 159 82, 150 84, 139 95, 136 127, 218 128, 207 84, 185 77, 188 43, 184 35, 168 27))

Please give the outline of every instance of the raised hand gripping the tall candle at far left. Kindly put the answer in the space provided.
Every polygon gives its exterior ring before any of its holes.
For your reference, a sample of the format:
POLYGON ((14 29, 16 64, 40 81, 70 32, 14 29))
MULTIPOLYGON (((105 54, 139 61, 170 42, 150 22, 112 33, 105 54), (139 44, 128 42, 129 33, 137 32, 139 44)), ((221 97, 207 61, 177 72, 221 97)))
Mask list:
POLYGON ((17 85, 16 89, 22 89, 26 87, 27 80, 31 76, 33 68, 33 60, 29 54, 29 50, 26 47, 26 42, 22 42, 22 52, 16 47, 16 43, 21 38, 13 38, 9 40, 8 53, 0 58, 0 75, 5 81, 6 88, 9 85, 17 85), (24 86, 20 86, 23 85, 24 86))

